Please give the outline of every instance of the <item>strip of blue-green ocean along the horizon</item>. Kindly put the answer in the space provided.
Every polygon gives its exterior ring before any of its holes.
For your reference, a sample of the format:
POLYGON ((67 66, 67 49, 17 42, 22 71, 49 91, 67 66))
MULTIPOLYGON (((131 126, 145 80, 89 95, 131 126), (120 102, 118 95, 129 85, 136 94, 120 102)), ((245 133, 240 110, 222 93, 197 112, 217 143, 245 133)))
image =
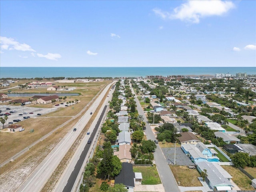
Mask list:
POLYGON ((0 78, 146 77, 150 75, 256 74, 256 67, 0 67, 0 78))

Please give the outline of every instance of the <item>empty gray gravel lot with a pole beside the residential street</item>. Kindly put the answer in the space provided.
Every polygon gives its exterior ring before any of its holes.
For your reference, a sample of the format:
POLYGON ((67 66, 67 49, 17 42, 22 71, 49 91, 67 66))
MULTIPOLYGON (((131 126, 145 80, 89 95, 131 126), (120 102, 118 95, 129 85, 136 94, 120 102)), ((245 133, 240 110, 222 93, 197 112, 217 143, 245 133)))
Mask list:
MULTIPOLYGON (((174 147, 172 148, 162 148, 162 152, 166 158, 168 164, 174 165, 174 147)), ((182 151, 180 147, 176 147, 176 165, 183 166, 194 166, 195 164, 190 160, 190 158, 182 151)))

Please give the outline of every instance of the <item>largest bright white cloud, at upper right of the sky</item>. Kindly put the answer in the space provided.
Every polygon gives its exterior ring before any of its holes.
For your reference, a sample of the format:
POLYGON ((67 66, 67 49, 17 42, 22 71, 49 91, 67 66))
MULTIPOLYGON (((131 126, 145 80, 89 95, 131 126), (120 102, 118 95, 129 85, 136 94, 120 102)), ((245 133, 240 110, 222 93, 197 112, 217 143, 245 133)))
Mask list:
POLYGON ((181 6, 174 8, 172 13, 154 8, 153 12, 165 19, 180 19, 186 22, 199 23, 201 18, 207 16, 221 16, 235 5, 230 1, 221 0, 189 0, 181 6))

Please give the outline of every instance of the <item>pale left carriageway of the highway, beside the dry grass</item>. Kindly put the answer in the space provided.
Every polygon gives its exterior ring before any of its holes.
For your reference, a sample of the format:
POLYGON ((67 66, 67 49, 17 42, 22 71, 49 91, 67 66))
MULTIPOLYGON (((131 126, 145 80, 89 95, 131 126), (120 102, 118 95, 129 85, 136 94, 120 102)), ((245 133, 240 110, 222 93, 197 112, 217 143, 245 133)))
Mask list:
POLYGON ((68 134, 57 144, 57 146, 46 156, 46 158, 39 164, 34 172, 21 184, 16 190, 17 192, 35 192, 40 191, 44 187, 44 184, 48 181, 62 158, 68 152, 74 141, 79 136, 82 128, 88 123, 92 116, 90 112, 94 112, 100 102, 103 100, 104 95, 110 88, 110 84, 102 91, 98 98, 91 104, 87 112, 82 118, 70 129, 68 134), (76 131, 73 129, 76 128, 76 131))

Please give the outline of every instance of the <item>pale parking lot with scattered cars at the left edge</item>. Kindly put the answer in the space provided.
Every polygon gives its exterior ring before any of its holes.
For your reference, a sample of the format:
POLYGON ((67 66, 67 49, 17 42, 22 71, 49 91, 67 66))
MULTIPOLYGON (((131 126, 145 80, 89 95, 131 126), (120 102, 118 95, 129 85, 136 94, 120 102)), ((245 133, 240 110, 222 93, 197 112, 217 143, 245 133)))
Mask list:
MULTIPOLYGON (((8 120, 6 120, 7 123, 8 122, 16 123, 16 122, 13 122, 13 120, 23 121, 23 120, 26 120, 24 119, 24 117, 27 117, 27 116, 29 116, 30 118, 40 117, 37 114, 41 114, 41 115, 48 114, 50 112, 57 110, 59 107, 65 107, 65 105, 54 106, 52 108, 27 107, 26 105, 24 106, 0 105, 0 110, 2 110, 0 114, 6 114, 12 111, 16 111, 16 112, 10 113, 10 115, 8 115, 8 120), (10 109, 7 109, 7 108, 10 108, 10 109)), ((4 118, 4 115, 1 115, 0 117, 4 118)))

